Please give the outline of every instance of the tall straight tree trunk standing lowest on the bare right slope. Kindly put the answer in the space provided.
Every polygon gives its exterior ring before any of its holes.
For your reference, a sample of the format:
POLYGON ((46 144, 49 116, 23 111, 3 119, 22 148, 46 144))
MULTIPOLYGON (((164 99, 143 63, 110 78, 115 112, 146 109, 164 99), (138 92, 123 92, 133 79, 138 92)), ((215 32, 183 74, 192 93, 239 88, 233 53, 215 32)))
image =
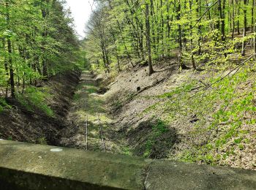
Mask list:
POLYGON ((148 49, 148 75, 151 75, 154 72, 154 69, 152 66, 152 58, 151 58, 149 8, 148 8, 147 2, 146 2, 146 41, 147 41, 147 49, 148 49))

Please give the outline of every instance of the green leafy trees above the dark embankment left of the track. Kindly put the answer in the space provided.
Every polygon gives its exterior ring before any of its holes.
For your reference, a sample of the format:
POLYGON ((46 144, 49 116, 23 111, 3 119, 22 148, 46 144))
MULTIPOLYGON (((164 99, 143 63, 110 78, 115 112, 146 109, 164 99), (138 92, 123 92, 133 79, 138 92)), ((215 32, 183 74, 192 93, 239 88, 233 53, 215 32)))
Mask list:
POLYGON ((56 0, 0 1, 0 88, 22 94, 82 63, 72 18, 56 0))

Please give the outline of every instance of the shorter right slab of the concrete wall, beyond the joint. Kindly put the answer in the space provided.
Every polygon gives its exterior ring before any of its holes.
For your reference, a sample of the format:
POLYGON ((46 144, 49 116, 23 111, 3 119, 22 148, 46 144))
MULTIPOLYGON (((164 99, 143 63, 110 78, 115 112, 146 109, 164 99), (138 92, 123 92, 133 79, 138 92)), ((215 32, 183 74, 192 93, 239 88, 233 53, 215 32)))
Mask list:
POLYGON ((256 171, 175 161, 154 161, 146 189, 256 189, 256 171))

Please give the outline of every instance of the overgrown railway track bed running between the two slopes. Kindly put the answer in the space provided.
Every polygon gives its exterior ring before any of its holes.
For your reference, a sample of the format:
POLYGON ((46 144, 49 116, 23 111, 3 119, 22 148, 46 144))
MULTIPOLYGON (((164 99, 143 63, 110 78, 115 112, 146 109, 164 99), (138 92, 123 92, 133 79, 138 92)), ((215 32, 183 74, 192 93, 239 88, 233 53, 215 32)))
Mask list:
POLYGON ((91 151, 121 153, 118 132, 108 114, 105 96, 97 94, 97 80, 89 72, 83 72, 74 95, 67 119, 72 128, 61 139, 61 144, 91 151))

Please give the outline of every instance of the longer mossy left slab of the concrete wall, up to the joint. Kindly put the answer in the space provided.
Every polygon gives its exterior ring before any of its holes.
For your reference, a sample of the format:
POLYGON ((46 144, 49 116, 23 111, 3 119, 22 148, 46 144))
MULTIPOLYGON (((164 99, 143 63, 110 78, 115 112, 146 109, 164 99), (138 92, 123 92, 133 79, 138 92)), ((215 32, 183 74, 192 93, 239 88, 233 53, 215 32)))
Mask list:
POLYGON ((148 163, 143 159, 51 148, 56 147, 0 141, 0 180, 25 189, 144 188, 148 163))

